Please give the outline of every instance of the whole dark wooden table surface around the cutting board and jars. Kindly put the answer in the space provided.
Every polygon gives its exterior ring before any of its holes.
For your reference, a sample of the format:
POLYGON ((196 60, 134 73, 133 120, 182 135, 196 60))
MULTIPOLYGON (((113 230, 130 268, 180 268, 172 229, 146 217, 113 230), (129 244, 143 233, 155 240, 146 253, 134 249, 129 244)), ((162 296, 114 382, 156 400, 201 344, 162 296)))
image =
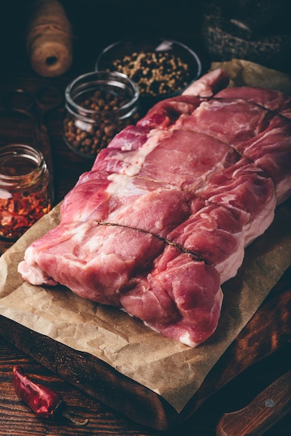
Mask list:
MULTIPOLYGON (((132 21, 130 15, 135 8, 134 2, 128 2, 128 6, 124 10, 118 1, 109 2, 113 6, 107 3, 106 7, 102 5, 100 8, 93 5, 93 1, 64 1, 64 5, 68 8, 70 20, 74 24, 74 36, 76 38, 74 42, 74 62, 70 71, 62 77, 43 78, 33 72, 25 52, 25 23, 22 22, 24 6, 22 3, 24 2, 9 2, 2 14, 2 19, 6 20, 4 20, 5 23, 1 27, 0 35, 2 42, 0 61, 0 146, 15 141, 26 143, 32 141, 29 120, 23 116, 9 114, 4 110, 3 97, 6 92, 22 87, 30 91, 36 91, 40 86, 47 84, 53 84, 63 92, 72 77, 93 70, 95 56, 102 47, 109 42, 127 36, 129 30, 137 31, 139 29, 139 20, 132 21), (16 10, 18 13, 16 13, 16 10), (120 13, 123 13, 123 19, 118 21, 120 13), (118 26, 116 22, 119 23, 118 26), (132 24, 131 28, 130 24, 132 24), (104 29, 107 29, 107 31, 104 31, 104 29)), ((152 19, 152 32, 164 33, 159 29, 159 25, 164 22, 164 31, 166 31, 167 36, 170 35, 171 38, 190 43, 194 49, 200 51, 200 55, 203 57, 203 47, 200 45, 198 27, 196 27, 199 2, 194 1, 193 9, 190 11, 189 6, 186 6, 187 2, 183 1, 178 11, 171 10, 168 2, 161 2, 165 4, 157 9, 156 3, 149 1, 148 5, 145 6, 141 28, 146 31, 146 24, 152 17, 152 13, 156 11, 155 17, 152 19), (168 7, 167 17, 165 17, 166 6, 168 7), (163 10, 163 8, 165 9, 163 10), (182 10, 184 10, 184 16, 182 10), (189 17, 189 12, 193 14, 191 17, 189 17), (184 22, 186 20, 187 26, 179 21, 181 18, 184 22), (179 22, 180 26, 177 25, 179 22), (189 27, 190 22, 193 24, 192 27, 189 27)), ((207 69, 207 56, 205 56, 203 68, 207 69)), ((63 196, 74 186, 81 173, 91 167, 91 162, 77 157, 65 145, 62 137, 62 119, 62 109, 54 111, 47 118, 54 154, 56 203, 61 201, 63 196)), ((290 289, 290 280, 286 281, 285 286, 290 289)), ((287 342, 280 350, 253 365, 211 396, 178 429, 173 428, 173 430, 162 434, 167 436, 177 434, 181 436, 214 436, 217 422, 224 412, 244 407, 260 390, 267 387, 276 377, 290 368, 291 344, 287 342)), ((6 340, 5 336, 0 336, 0 423, 0 435, 3 436, 157 436, 161 434, 157 430, 141 426, 139 423, 125 418, 122 414, 109 409, 109 407, 97 402, 91 396, 79 391, 47 370, 47 368, 38 364, 24 352, 15 348, 6 340), (70 412, 79 419, 88 418, 88 425, 84 428, 77 428, 68 421, 48 422, 33 414, 19 400, 13 388, 12 369, 15 364, 22 365, 26 373, 35 377, 38 382, 47 384, 52 389, 60 392, 68 403, 70 412)), ((290 436, 290 434, 291 414, 285 416, 266 433, 267 436, 290 436)))

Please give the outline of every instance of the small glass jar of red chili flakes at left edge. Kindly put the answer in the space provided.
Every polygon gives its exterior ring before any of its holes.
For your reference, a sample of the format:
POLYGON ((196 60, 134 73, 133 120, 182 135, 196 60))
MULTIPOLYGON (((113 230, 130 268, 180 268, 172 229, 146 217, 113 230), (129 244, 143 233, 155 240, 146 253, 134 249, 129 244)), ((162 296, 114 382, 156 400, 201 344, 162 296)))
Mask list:
POLYGON ((25 144, 0 148, 0 238, 15 241, 52 208, 42 154, 25 144))

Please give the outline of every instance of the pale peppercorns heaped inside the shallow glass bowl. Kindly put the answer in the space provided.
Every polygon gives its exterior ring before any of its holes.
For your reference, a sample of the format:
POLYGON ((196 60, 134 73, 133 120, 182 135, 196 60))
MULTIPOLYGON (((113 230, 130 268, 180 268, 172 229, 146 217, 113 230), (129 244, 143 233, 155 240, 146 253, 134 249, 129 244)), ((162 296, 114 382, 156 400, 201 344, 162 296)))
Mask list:
POLYGON ((189 84, 187 63, 171 52, 140 52, 112 61, 112 69, 123 72, 139 86, 141 96, 178 92, 189 84))

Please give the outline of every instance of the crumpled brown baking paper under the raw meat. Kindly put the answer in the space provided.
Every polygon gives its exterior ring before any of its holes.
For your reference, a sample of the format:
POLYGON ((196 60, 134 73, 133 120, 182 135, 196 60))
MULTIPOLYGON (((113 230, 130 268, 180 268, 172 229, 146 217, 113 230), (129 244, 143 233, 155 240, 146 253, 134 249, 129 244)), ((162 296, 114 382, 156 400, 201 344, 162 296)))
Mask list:
POLYGON ((88 352, 148 387, 177 412, 291 265, 291 201, 276 210, 273 224, 246 249, 237 277, 223 285, 217 331, 189 348, 143 322, 95 304, 67 288, 32 286, 17 273, 28 245, 58 223, 59 205, 42 217, 0 258, 0 314, 74 350, 88 352))

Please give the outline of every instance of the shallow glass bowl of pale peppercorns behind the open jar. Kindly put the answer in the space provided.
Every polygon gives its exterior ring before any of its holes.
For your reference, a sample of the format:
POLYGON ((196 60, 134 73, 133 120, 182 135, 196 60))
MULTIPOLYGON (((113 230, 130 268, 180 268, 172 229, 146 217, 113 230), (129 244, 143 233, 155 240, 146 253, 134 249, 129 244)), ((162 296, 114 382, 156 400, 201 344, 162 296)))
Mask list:
POLYGON ((139 88, 143 113, 165 98, 180 95, 198 79, 201 62, 187 45, 165 38, 120 40, 105 47, 96 71, 123 72, 139 88))

